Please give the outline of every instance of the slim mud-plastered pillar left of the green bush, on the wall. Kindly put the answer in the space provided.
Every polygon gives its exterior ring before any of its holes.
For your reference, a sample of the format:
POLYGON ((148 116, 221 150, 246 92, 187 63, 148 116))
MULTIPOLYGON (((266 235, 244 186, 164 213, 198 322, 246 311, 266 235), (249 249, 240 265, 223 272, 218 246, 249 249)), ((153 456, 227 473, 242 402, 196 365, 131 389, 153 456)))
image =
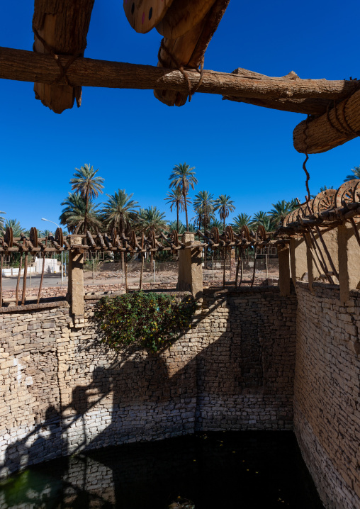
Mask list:
POLYGON ((84 316, 84 253, 79 250, 69 251, 68 281, 72 314, 74 317, 84 316))

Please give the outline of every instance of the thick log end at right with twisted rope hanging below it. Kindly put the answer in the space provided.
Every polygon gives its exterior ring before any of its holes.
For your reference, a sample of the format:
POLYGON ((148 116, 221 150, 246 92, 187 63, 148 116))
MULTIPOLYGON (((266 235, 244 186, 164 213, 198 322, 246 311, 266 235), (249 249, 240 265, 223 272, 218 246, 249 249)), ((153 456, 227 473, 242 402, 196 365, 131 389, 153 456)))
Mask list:
MULTIPOLYGON (((345 82, 344 82, 345 83, 345 82)), ((354 81, 359 88, 359 82, 354 81)), ((319 154, 360 134, 360 90, 317 118, 308 118, 293 130, 293 145, 302 154, 319 154)))

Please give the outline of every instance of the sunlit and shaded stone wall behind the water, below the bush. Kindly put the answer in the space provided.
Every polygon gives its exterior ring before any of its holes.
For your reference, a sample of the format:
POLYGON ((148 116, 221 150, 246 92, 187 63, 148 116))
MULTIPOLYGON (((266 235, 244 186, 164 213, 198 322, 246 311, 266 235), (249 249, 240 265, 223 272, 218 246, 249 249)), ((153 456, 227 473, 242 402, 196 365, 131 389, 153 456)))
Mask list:
POLYGON ((76 323, 66 301, 0 313, 1 476, 195 430, 291 429, 295 295, 205 291, 191 328, 157 355, 106 352, 95 304, 88 296, 76 323))

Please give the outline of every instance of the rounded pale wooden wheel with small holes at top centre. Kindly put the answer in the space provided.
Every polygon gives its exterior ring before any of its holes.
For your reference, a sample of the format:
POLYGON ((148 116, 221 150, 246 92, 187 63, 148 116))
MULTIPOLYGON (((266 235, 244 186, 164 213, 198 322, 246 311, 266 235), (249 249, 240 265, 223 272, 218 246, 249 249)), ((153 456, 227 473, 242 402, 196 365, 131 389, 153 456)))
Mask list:
POLYGON ((147 33, 157 26, 173 0, 124 0, 128 22, 138 33, 147 33))

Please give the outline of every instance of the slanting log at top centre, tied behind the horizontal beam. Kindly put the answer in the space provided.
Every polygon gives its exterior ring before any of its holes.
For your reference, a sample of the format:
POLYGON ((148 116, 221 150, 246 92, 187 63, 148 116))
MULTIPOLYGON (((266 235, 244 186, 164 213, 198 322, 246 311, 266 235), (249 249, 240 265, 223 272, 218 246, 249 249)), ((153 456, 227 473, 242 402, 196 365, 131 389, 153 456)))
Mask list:
MULTIPOLYGON (((197 72, 198 67, 203 62, 203 58, 213 37, 218 24, 223 18, 223 14, 230 0, 216 0, 206 16, 198 21, 195 26, 173 39, 164 38, 163 48, 159 51, 158 67, 179 68, 181 66, 190 69, 196 69, 198 82, 196 84, 187 83, 187 93, 179 91, 169 91, 169 89, 155 89, 154 96, 167 106, 184 106, 189 96, 189 86, 195 90, 199 84, 201 75, 197 72)), ((186 76, 188 72, 186 71, 186 76)), ((186 79, 185 79, 186 81, 186 79)))

